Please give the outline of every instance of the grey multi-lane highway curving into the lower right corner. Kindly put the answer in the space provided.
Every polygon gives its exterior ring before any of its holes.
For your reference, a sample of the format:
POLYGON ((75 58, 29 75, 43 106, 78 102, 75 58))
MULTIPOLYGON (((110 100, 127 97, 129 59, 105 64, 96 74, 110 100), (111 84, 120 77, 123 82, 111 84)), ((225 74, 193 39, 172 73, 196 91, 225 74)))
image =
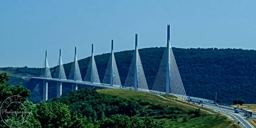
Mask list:
MULTIPOLYGON (((210 105, 210 104, 204 104, 204 107, 215 110, 215 111, 219 111, 223 114, 226 114, 228 116, 230 116, 232 119, 234 119, 237 122, 240 122, 240 125, 242 127, 246 127, 246 128, 255 128, 253 125, 251 125, 249 123, 249 121, 246 119, 246 116, 244 116, 243 112, 240 113, 234 113, 234 109, 232 110, 230 108, 228 108, 228 106, 216 106, 216 105, 210 105)), ((253 118, 256 118, 255 115, 253 115, 253 118)))

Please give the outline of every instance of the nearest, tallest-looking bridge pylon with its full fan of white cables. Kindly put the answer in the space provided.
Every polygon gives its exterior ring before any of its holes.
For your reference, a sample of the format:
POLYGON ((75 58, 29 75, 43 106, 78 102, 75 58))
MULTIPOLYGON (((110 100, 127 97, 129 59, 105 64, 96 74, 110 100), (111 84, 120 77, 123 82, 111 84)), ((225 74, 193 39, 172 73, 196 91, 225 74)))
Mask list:
POLYGON ((170 45, 170 25, 167 25, 167 46, 152 90, 165 92, 165 94, 170 93, 181 99, 187 100, 173 50, 170 45))

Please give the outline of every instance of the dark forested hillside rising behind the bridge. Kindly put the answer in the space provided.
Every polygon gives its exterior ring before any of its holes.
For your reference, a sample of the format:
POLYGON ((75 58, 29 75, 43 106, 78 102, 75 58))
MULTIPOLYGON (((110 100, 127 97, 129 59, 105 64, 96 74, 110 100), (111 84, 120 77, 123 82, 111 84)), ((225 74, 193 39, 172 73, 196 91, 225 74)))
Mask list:
MULTIPOLYGON (((144 48, 139 49, 142 66, 149 89, 152 89, 156 73, 158 71, 164 48, 144 48)), ((134 50, 116 52, 115 60, 119 70, 122 84, 125 82, 129 66, 132 60, 134 50)), ((217 48, 173 48, 174 56, 183 81, 186 94, 193 97, 206 99, 215 99, 215 91, 217 91, 217 99, 221 102, 232 102, 240 97, 247 103, 256 103, 254 98, 256 88, 256 51, 242 49, 217 49, 217 48)), ((95 62, 98 68, 100 80, 103 80, 105 69, 110 54, 95 56, 95 62)), ((79 67, 82 78, 85 77, 90 58, 79 60, 79 67)), ((52 76, 55 69, 51 68, 52 76)), ((71 63, 64 65, 66 76, 69 76, 71 63)), ((9 70, 10 68, 0 68, 0 70, 9 70)), ((39 68, 15 68, 11 70, 14 74, 31 74, 39 76, 41 69, 39 68)), ((11 78, 12 80, 12 78, 11 78)), ((30 80, 24 85, 33 90, 36 84, 42 84, 37 80, 30 80)), ((49 85, 49 96, 56 96, 56 83, 49 85), (51 93, 52 92, 52 93, 51 93)), ((39 93, 42 95, 42 89, 39 87, 39 93)), ((64 85, 65 92, 69 90, 69 85, 64 85)))

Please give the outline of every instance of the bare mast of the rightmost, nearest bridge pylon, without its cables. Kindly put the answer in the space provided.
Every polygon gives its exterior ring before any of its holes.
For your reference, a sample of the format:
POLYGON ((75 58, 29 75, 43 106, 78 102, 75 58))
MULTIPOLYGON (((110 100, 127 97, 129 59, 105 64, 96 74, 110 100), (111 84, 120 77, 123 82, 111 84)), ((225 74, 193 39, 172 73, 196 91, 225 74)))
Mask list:
POLYGON ((165 83, 165 94, 170 93, 170 49, 169 49, 169 42, 170 42, 170 25, 167 25, 167 49, 168 49, 168 59, 166 61, 166 83, 165 83))

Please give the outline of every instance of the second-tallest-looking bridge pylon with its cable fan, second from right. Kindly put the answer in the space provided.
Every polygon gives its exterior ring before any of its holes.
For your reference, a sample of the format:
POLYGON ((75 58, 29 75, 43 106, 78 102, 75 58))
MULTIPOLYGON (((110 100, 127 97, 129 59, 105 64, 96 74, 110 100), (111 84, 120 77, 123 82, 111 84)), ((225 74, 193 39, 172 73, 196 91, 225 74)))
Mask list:
POLYGON ((135 51, 132 58, 124 87, 133 87, 134 90, 149 92, 145 74, 142 68, 140 55, 137 49, 137 34, 135 34, 135 51))

